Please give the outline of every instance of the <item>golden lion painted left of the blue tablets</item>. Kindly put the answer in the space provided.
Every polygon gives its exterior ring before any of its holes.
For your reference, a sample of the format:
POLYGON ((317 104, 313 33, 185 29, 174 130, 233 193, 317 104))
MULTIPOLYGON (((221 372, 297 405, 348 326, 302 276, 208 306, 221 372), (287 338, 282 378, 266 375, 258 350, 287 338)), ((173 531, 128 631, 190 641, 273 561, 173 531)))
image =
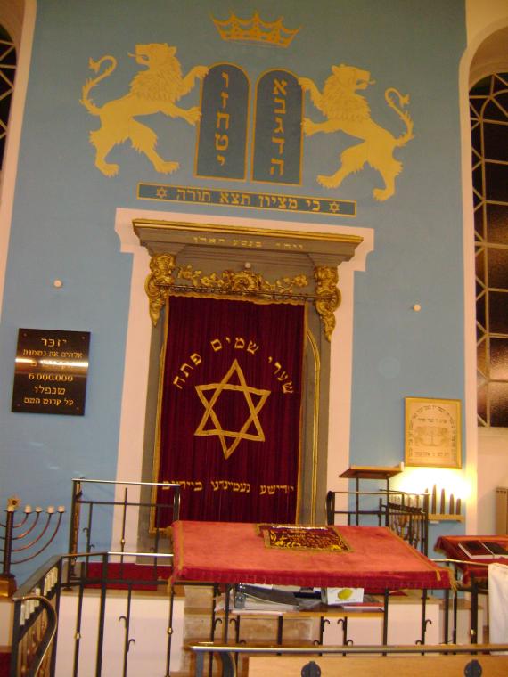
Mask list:
POLYGON ((95 167, 106 176, 119 173, 119 166, 106 161, 108 153, 119 143, 128 140, 136 151, 144 153, 153 167, 163 174, 174 172, 178 162, 162 159, 155 151, 157 135, 149 127, 135 118, 154 113, 164 113, 170 118, 184 118, 195 125, 200 118, 197 107, 184 110, 176 102, 193 89, 194 82, 204 77, 208 68, 195 66, 185 77, 182 76, 180 62, 176 59, 176 47, 169 45, 135 45, 135 61, 146 70, 138 73, 132 80, 130 92, 125 96, 105 103, 101 108, 89 98, 90 90, 105 77, 111 75, 117 67, 114 56, 103 56, 99 61, 90 59, 89 66, 99 73, 102 64, 110 65, 97 77, 89 78, 83 86, 82 103, 92 115, 101 118, 101 127, 90 133, 90 143, 95 148, 95 167))

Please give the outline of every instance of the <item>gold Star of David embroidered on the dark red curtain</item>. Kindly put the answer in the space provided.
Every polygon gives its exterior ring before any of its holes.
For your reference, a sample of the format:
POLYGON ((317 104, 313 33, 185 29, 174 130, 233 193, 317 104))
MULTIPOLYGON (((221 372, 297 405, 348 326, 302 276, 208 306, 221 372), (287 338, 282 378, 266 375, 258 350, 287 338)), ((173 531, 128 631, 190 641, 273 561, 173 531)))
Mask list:
POLYGON ((258 413, 266 403, 270 391, 248 386, 242 368, 237 360, 233 361, 231 367, 225 374, 224 379, 222 379, 220 383, 209 383, 207 386, 196 386, 195 388, 205 408, 205 412, 199 426, 194 431, 194 435, 217 435, 225 459, 228 459, 231 456, 236 447, 242 442, 242 439, 250 439, 254 442, 265 442, 265 433, 263 432, 263 428, 261 428, 258 413), (238 385, 229 382, 234 374, 236 374, 238 378, 238 385), (225 430, 218 420, 217 412, 214 411, 214 405, 217 403, 218 398, 227 390, 242 393, 249 408, 249 415, 242 425, 242 428, 238 431, 225 430), (208 393, 211 394, 211 397, 209 398, 207 397, 208 393), (252 396, 258 396, 259 399, 257 404, 254 404, 252 396), (215 428, 205 429, 209 420, 213 423, 215 428), (248 432, 251 426, 254 426, 256 429, 256 434, 248 432), (231 440, 233 441, 231 442, 231 440))

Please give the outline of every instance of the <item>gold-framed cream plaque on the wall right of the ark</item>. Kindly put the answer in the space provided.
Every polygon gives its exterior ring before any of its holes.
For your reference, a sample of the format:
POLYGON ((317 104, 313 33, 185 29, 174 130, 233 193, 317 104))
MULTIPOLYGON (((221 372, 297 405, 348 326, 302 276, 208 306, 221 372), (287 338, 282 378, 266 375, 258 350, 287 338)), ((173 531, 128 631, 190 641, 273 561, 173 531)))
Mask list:
POLYGON ((461 468, 461 401, 406 397, 406 466, 461 468))

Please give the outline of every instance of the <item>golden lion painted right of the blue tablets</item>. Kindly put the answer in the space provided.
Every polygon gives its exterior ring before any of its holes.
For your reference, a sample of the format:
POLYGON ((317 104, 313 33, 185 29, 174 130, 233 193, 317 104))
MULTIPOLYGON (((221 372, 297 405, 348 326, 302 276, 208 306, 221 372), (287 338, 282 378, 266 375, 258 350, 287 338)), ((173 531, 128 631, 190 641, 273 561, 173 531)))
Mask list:
POLYGON ((384 188, 375 188, 375 200, 388 200, 395 193, 395 179, 402 171, 402 163, 393 157, 396 148, 405 146, 413 136, 413 120, 408 113, 401 110, 409 102, 409 96, 402 96, 397 89, 390 87, 385 91, 385 100, 389 107, 397 112, 406 124, 406 132, 395 138, 371 118, 369 104, 365 97, 356 90, 373 85, 371 74, 367 70, 354 66, 332 66, 332 75, 324 83, 320 93, 314 82, 307 77, 300 77, 299 84, 310 98, 317 110, 320 110, 324 122, 313 122, 309 118, 303 120, 303 131, 307 136, 317 132, 344 132, 350 136, 363 139, 362 143, 347 148, 340 154, 340 167, 332 175, 318 175, 317 181, 326 188, 337 188, 346 176, 360 171, 365 164, 377 169, 384 181, 384 188), (398 98, 397 104, 392 96, 398 98))

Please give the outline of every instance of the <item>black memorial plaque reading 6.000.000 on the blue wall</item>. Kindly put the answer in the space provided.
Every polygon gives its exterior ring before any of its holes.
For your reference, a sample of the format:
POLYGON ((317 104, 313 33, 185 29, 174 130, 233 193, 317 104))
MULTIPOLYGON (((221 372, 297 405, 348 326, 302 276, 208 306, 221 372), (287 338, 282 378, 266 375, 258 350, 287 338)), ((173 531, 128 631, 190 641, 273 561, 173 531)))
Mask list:
POLYGON ((12 412, 83 416, 89 331, 20 329, 12 412))

